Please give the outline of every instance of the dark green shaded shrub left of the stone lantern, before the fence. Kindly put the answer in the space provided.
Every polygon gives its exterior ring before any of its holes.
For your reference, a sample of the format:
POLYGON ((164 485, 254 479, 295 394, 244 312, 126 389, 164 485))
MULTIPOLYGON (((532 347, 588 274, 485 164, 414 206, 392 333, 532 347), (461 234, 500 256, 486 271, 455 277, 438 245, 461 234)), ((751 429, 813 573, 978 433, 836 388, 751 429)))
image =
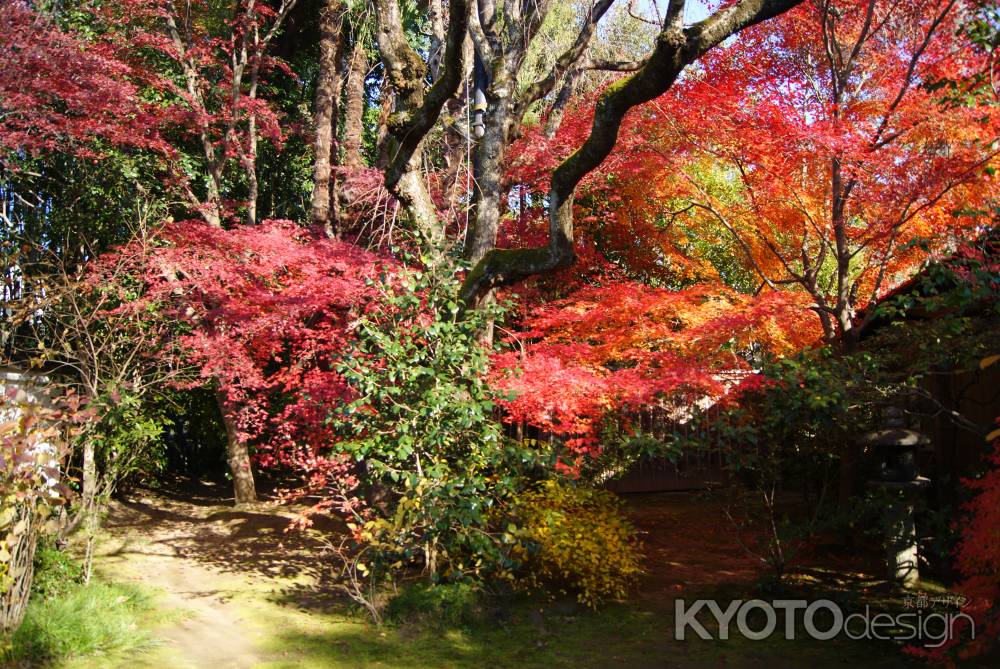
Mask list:
POLYGON ((769 568, 769 588, 816 532, 837 521, 836 465, 882 392, 867 382, 870 371, 868 356, 830 348, 769 361, 759 389, 696 419, 694 445, 725 445, 732 486, 719 495, 724 522, 769 568))

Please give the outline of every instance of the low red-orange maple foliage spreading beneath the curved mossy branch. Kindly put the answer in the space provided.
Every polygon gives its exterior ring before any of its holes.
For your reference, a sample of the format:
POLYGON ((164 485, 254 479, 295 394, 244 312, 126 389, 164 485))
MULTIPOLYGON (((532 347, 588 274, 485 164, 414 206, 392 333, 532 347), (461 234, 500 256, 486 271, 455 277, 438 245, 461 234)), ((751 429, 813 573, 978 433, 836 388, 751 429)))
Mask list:
POLYGON ((609 414, 717 400, 750 370, 751 348, 782 355, 819 338, 802 296, 749 296, 719 285, 687 290, 614 281, 535 309, 513 350, 495 357, 495 383, 514 395, 507 419, 600 453, 609 414))

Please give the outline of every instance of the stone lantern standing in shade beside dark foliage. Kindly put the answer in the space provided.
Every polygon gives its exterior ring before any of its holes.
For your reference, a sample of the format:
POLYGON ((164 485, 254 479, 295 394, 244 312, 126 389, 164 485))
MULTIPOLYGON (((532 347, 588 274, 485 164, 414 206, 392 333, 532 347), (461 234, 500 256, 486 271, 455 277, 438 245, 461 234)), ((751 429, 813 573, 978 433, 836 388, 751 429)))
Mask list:
POLYGON ((903 412, 895 407, 885 411, 883 421, 884 428, 864 435, 861 444, 871 448, 879 462, 878 478, 868 482, 869 488, 884 490, 893 500, 887 509, 885 537, 889 579, 908 588, 920 580, 914 503, 930 485, 917 469, 917 450, 930 440, 907 429, 903 412))

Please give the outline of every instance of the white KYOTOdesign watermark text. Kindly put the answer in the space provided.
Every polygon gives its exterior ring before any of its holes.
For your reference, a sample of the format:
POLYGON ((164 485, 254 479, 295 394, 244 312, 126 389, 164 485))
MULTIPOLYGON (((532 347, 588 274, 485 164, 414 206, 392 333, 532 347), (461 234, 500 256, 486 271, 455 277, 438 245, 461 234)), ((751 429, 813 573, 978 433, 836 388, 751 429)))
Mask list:
MULTIPOLYGON (((954 605, 954 602, 952 603, 954 605)), ((955 637, 956 624, 976 638, 975 621, 966 613, 949 608, 932 611, 917 608, 902 613, 864 611, 845 613, 829 599, 736 599, 726 604, 714 599, 697 599, 690 604, 678 599, 674 604, 674 638, 684 641, 691 635, 701 639, 728 639, 739 634, 759 641, 781 634, 785 639, 805 636, 820 641, 836 637, 852 640, 903 641, 938 648, 955 637), (700 618, 700 619, 699 619, 700 618), (706 627, 707 625, 707 627, 706 627)))

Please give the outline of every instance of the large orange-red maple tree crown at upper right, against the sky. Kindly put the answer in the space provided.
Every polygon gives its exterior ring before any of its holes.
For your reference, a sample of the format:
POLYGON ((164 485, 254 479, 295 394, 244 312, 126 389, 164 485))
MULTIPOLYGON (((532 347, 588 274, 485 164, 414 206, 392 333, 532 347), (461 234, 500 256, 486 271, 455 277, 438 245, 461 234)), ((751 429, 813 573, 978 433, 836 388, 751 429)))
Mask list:
MULTIPOLYGON (((582 236, 633 273, 804 292, 827 339, 856 339, 865 305, 995 197, 1000 108, 951 85, 988 58, 969 4, 813 0, 741 34, 627 119, 578 198, 582 236)), ((511 178, 536 183, 591 114, 528 137, 511 178)))

